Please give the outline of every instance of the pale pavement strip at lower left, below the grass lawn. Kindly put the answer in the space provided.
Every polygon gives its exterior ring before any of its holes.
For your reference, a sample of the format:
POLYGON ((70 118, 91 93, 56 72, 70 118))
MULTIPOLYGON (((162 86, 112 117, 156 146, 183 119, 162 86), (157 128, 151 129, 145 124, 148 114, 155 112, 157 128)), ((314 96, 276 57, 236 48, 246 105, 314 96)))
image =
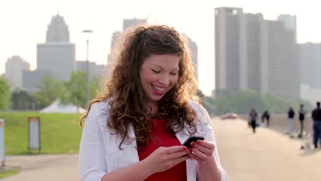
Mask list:
POLYGON ((5 165, 20 171, 1 181, 79 180, 78 154, 5 156, 5 165))

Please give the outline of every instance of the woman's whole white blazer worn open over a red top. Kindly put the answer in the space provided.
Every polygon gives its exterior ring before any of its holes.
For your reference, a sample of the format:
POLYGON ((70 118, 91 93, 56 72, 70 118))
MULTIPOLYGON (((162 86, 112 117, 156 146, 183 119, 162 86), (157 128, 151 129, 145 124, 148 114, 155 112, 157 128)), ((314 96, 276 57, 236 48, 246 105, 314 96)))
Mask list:
MULTIPOLYGON (((215 144, 209 114, 195 101, 190 101, 190 104, 201 120, 196 121, 198 132, 194 135, 204 136, 207 141, 215 144)), ((100 181, 108 172, 117 171, 139 162, 136 140, 133 140, 129 145, 122 144, 123 149, 119 149, 121 137, 110 134, 112 130, 107 126, 109 107, 110 105, 106 101, 93 104, 86 119, 79 154, 80 180, 82 181, 100 181)), ((184 143, 190 136, 188 130, 189 128, 185 128, 176 134, 180 143, 184 143)), ((132 127, 130 127, 130 137, 135 137, 132 127)), ((213 154, 222 173, 221 181, 227 181, 228 177, 221 167, 216 147, 213 154)), ((197 180, 197 165, 196 160, 191 158, 186 160, 187 181, 197 180)))

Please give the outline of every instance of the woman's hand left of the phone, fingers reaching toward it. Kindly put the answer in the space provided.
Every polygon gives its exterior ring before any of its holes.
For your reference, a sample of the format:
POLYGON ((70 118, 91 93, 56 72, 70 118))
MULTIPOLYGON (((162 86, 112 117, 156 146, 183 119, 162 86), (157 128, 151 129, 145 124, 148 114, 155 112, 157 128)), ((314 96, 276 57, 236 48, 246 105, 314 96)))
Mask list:
POLYGON ((185 146, 158 147, 145 158, 148 168, 153 173, 166 171, 180 162, 189 159, 190 151, 185 146))

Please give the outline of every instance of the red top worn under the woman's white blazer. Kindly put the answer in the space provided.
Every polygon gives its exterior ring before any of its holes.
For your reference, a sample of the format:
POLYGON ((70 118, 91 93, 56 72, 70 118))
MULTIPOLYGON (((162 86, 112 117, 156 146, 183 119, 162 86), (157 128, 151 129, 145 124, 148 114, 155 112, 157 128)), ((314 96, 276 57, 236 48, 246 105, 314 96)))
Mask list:
MULTIPOLYGON (((165 121, 161 119, 152 119, 154 123, 153 132, 150 136, 154 138, 148 141, 145 149, 138 151, 139 160, 145 159, 152 154, 158 147, 171 147, 174 145, 181 145, 176 136, 171 136, 169 132, 165 131, 165 121)), ((154 173, 146 179, 147 181, 180 181, 187 180, 186 162, 180 162, 178 165, 167 169, 167 171, 154 173)))

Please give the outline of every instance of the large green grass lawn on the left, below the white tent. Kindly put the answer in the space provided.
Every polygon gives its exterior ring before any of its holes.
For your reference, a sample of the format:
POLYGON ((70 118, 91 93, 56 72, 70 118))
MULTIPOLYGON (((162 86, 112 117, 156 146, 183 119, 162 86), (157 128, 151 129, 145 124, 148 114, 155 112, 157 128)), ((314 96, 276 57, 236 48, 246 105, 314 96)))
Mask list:
POLYGON ((0 112, 5 120, 5 154, 36 154, 28 150, 28 117, 40 117, 40 153, 78 153, 81 114, 0 112))

